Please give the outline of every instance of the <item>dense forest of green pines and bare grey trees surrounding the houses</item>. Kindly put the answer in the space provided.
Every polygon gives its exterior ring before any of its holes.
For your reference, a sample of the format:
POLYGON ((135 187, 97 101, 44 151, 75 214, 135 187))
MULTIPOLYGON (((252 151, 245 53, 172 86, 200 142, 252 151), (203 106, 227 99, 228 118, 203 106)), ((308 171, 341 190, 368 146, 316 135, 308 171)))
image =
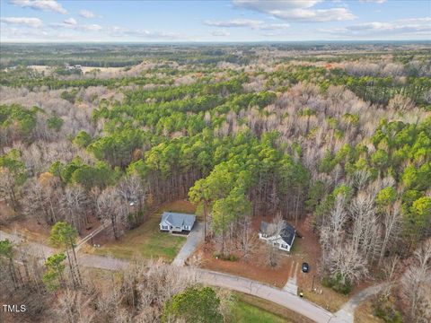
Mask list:
MULTIPOLYGON (((380 317, 426 322, 431 55, 426 45, 388 47, 2 46, 0 198, 15 214, 0 221, 23 216, 57 228, 62 233, 51 238, 66 250, 67 237, 84 234, 93 217, 119 240, 157 205, 189 199, 217 254, 229 258, 239 249, 247 258, 252 219, 310 216, 323 284, 347 293, 384 276, 391 284, 376 301, 380 317)), ((72 255, 69 263, 63 254, 48 258, 45 268, 19 278, 11 250, 7 243, 0 249, 11 259, 0 273, 13 277, 2 284, 35 295, 67 285, 57 315, 71 322, 83 309, 66 303, 101 292, 72 255)), ((145 266, 124 274, 113 293, 101 292, 99 313, 115 303, 124 314, 118 321, 150 314, 169 321, 186 315, 181 301, 214 307, 232 298, 187 277, 165 283, 172 284, 167 291, 155 282, 172 268, 145 266), (150 289, 154 296, 143 292, 150 289)))

